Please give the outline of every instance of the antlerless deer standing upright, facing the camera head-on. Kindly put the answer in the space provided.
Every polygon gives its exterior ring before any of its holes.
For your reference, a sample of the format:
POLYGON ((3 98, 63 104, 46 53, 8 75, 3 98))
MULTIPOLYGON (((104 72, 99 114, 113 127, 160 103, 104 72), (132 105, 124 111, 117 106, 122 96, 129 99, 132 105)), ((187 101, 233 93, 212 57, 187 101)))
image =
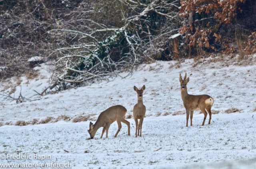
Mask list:
POLYGON ((144 106, 142 98, 143 98, 143 91, 145 90, 145 85, 142 86, 140 90, 136 86, 134 86, 134 90, 137 92, 138 95, 138 103, 135 104, 133 108, 133 118, 136 123, 136 137, 137 137, 137 130, 138 130, 138 135, 140 134, 141 137, 141 130, 142 130, 142 123, 143 119, 146 114, 146 106, 144 106), (140 123, 138 124, 138 119, 140 119, 140 123))

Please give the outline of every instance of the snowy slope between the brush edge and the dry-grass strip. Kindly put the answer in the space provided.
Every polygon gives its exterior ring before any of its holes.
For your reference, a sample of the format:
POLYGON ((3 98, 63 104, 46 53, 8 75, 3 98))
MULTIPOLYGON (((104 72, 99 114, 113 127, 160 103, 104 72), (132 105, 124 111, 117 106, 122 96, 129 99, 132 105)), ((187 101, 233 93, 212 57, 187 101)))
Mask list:
MULTIPOLYGON (((223 113, 230 108, 237 108, 240 112, 252 112, 256 107, 256 66, 241 67, 236 65, 224 66, 227 63, 206 61, 193 67, 192 59, 177 67, 177 63, 156 62, 150 65, 141 65, 132 77, 121 79, 117 77, 109 83, 92 84, 42 96, 41 100, 33 102, 8 102, 0 100, 0 122, 16 124, 18 120, 31 123, 33 119, 58 118, 60 115, 71 119, 82 114, 98 114, 108 107, 121 104, 132 114, 134 104, 137 102, 133 86, 141 88, 146 86, 144 104, 147 116, 164 114, 184 114, 184 106, 180 96, 179 74, 184 77, 185 72, 190 77, 188 83, 189 94, 208 94, 214 98, 212 110, 223 113), (191 75, 192 74, 192 75, 191 75)), ((229 63, 230 64, 230 63, 229 63)), ((45 73, 44 77, 50 74, 45 73)), ((125 73, 121 74, 123 77, 125 73)), ((36 79, 37 80, 37 79, 36 79)), ((33 90, 41 92, 48 86, 48 79, 36 81, 23 80, 22 95, 37 99, 33 90), (25 84, 29 81, 29 84, 25 84)), ((15 96, 20 93, 20 86, 16 88, 15 96)), ((1 98, 0 98, 1 99, 1 98)))

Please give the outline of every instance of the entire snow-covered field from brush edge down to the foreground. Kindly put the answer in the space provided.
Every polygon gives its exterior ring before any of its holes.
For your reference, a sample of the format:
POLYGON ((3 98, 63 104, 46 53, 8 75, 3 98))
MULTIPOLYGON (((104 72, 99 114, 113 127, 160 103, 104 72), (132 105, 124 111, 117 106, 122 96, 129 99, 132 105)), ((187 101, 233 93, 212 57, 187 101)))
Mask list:
MULTIPOLYGON (((0 159, 0 164, 50 165, 53 162, 71 163, 72 168, 255 168, 256 65, 238 66, 236 62, 214 62, 213 59, 193 65, 192 59, 181 65, 175 61, 158 61, 140 65, 132 77, 126 79, 117 77, 109 83, 48 94, 41 100, 16 104, 0 99, 3 125, 0 154, 51 155, 51 159, 43 161, 0 159), (185 72, 190 77, 189 94, 208 94, 214 98, 210 125, 208 116, 206 125, 201 126, 204 116, 195 112, 193 126, 185 127, 179 83, 179 73, 184 77, 185 72), (100 112, 116 104, 126 107, 129 117, 137 102, 134 85, 146 86, 143 137, 135 138, 135 122, 130 118, 131 136, 127 136, 127 126, 122 124, 118 137, 113 138, 118 129, 114 122, 109 138, 105 138, 105 133, 100 139, 100 128, 95 139, 87 140, 90 121, 72 121, 83 117, 96 120, 100 112), (61 115, 68 117, 64 118, 66 121, 61 120, 61 115)), ((44 76, 21 79, 22 95, 26 98, 38 99, 32 90, 41 92, 48 85, 49 73, 42 67, 38 69, 44 76)), ((13 80, 13 83, 16 82, 13 80)), ((20 86, 14 94, 19 93, 20 86)))

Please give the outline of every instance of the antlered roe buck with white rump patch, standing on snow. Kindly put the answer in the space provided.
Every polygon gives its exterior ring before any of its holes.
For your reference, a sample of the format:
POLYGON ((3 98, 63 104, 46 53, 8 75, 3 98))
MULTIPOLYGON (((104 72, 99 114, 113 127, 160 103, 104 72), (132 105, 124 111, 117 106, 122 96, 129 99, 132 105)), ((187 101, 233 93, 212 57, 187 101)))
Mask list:
POLYGON ((187 89, 187 84, 189 82, 189 77, 187 78, 187 73, 182 80, 181 74, 180 74, 180 91, 181 91, 181 98, 183 100, 183 105, 186 109, 187 113, 187 124, 186 127, 188 127, 188 118, 189 118, 189 113, 190 113, 190 126, 192 126, 192 118, 194 114, 194 110, 201 110, 204 114, 204 121, 202 126, 204 126, 204 122, 206 120, 207 112, 209 113, 209 123, 211 123, 211 118, 212 118, 212 104, 214 103, 214 100, 211 96, 208 96, 206 94, 203 95, 191 95, 188 94, 188 89, 187 89))

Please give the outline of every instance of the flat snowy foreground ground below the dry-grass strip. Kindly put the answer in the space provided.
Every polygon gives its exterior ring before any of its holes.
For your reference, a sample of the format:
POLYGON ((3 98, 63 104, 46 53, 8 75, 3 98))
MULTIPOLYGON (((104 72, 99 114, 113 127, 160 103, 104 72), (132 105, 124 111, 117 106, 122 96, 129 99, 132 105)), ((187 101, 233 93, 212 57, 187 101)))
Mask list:
MULTIPOLYGON (((202 114, 194 115, 194 126, 185 127, 185 116, 144 119, 142 136, 135 138, 134 120, 117 138, 118 126, 110 126, 109 138, 86 140, 89 122, 57 122, 34 126, 2 126, 0 153, 51 155, 46 160, 0 159, 0 163, 67 164, 73 168, 179 168, 187 164, 255 159, 255 113, 214 114, 212 124, 201 126, 202 114), (66 152, 66 151, 69 152, 66 152)), ((105 135, 104 135, 105 136, 105 135)), ((205 166, 204 165, 204 166, 205 166)), ((255 168, 254 163, 251 164, 255 168)))

